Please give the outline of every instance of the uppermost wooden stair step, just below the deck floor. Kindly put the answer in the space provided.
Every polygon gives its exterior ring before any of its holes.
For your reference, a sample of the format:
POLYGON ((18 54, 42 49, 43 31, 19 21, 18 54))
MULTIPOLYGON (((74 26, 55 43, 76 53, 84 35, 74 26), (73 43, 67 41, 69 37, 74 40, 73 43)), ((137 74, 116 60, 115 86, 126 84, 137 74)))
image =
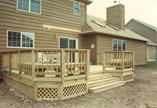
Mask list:
POLYGON ((105 79, 105 78, 111 78, 112 74, 99 74, 99 75, 90 75, 89 76, 89 81, 95 81, 95 80, 100 80, 100 79, 105 79))

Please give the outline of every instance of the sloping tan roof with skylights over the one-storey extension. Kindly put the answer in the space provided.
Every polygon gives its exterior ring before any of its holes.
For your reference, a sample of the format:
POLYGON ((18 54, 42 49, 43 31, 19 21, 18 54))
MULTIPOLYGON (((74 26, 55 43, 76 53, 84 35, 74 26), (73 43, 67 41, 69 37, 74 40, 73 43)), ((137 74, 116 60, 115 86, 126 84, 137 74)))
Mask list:
POLYGON ((135 39, 135 40, 150 41, 147 38, 144 38, 128 29, 125 29, 125 31, 119 30, 116 27, 113 27, 111 25, 106 25, 106 21, 104 19, 88 15, 87 24, 84 26, 80 34, 86 35, 86 34, 91 34, 91 33, 92 34, 93 33, 108 34, 108 35, 130 38, 130 39, 135 39), (92 21, 95 21, 97 24, 92 21), (88 28, 88 29, 85 29, 85 28, 88 28))

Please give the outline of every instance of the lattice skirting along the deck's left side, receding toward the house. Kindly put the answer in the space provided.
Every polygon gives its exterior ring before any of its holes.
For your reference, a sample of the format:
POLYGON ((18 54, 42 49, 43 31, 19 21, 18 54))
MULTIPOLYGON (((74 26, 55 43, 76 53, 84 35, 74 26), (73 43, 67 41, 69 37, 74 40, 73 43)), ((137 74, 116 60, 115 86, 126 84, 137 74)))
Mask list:
POLYGON ((4 81, 8 83, 10 86, 14 87, 15 89, 19 90, 20 92, 24 93, 25 95, 29 96, 30 98, 34 98, 34 89, 31 86, 25 85, 18 81, 12 80, 10 78, 5 77, 4 81))

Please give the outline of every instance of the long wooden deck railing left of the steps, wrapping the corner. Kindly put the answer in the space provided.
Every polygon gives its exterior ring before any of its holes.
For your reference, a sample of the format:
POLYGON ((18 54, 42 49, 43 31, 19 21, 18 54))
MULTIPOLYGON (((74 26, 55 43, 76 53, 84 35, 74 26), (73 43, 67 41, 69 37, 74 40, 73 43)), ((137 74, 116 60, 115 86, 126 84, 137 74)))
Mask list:
POLYGON ((2 67, 11 72, 34 77, 46 75, 62 80, 66 76, 88 77, 90 50, 84 49, 34 49, 2 53, 2 67))

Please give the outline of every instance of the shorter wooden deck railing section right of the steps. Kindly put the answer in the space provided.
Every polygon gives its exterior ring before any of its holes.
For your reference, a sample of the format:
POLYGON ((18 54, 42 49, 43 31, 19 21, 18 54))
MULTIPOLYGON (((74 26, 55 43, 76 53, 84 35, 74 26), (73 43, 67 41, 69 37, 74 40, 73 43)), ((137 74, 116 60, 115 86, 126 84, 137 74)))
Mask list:
POLYGON ((122 69, 132 68, 134 70, 134 52, 132 51, 105 51, 97 54, 97 64, 105 68, 122 69))

